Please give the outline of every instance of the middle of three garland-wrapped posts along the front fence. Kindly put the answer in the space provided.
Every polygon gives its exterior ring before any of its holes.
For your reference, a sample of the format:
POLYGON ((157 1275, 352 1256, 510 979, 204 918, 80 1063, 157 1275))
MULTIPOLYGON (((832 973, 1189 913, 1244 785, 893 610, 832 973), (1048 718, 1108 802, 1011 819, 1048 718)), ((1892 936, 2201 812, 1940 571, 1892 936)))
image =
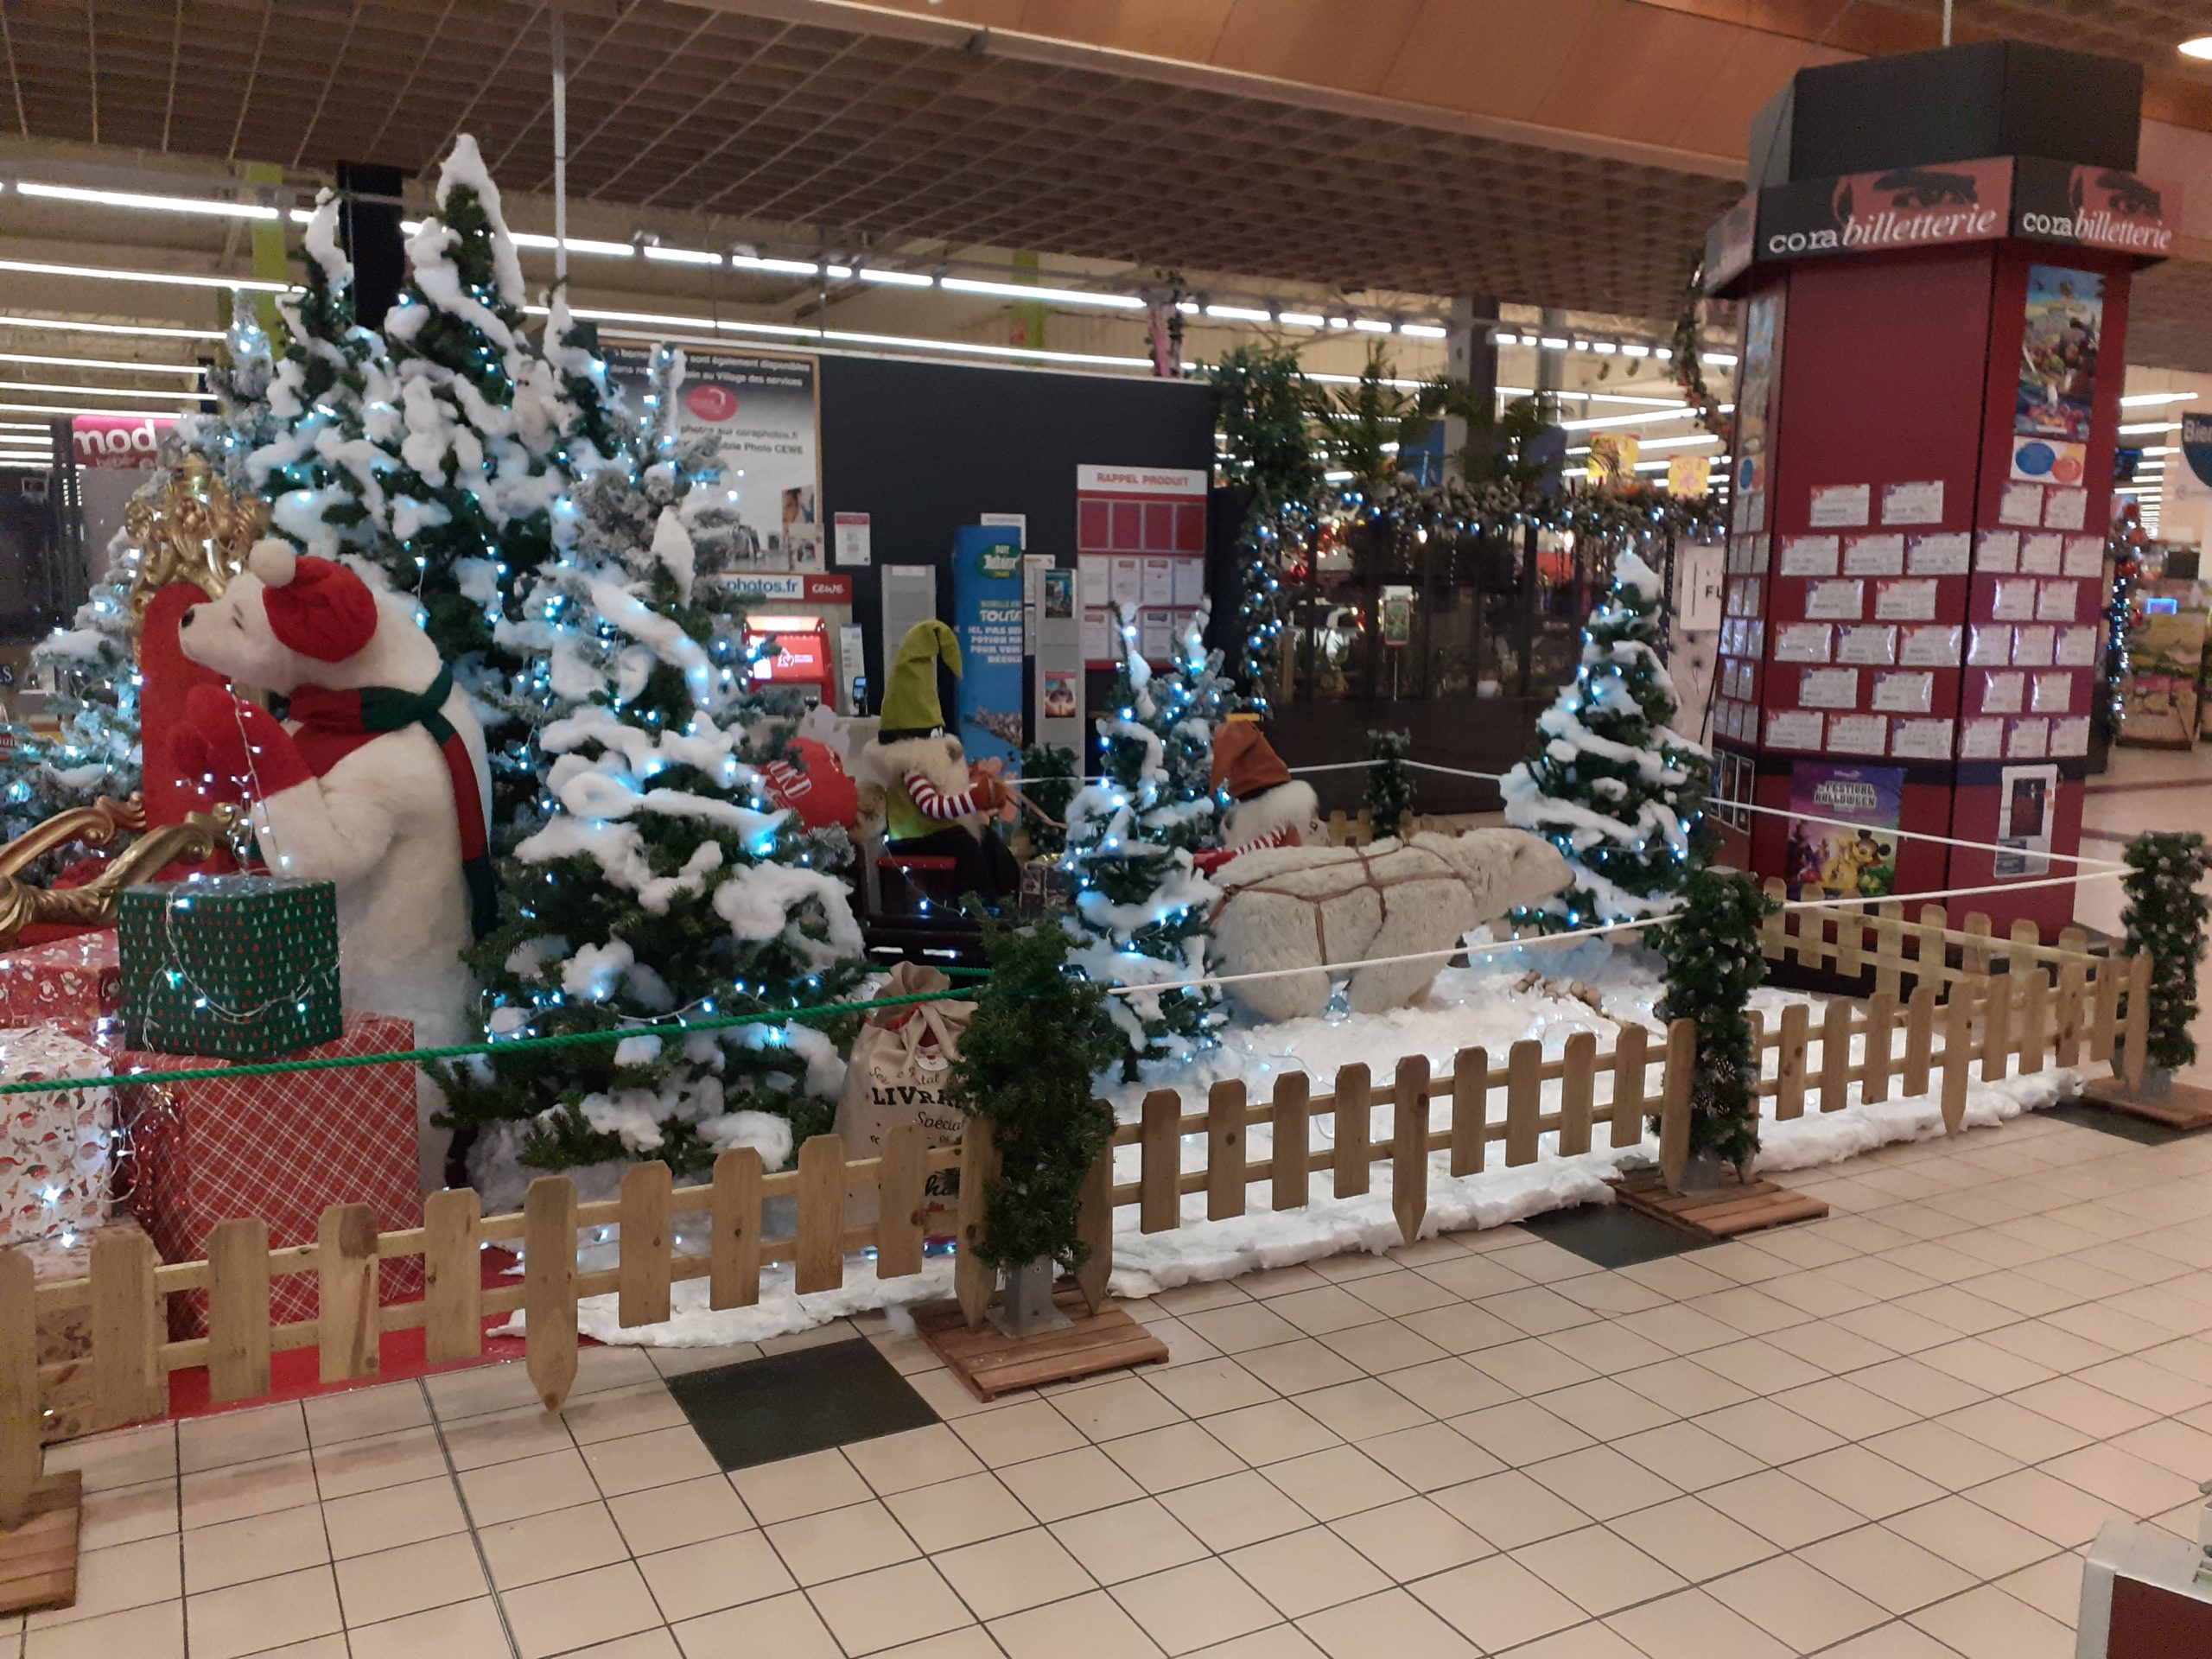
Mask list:
POLYGON ((1681 885, 1681 909, 1657 929, 1666 995, 1652 1013, 1668 1026, 1697 1022, 1690 1073, 1690 1155, 1750 1170, 1759 1155, 1759 1053, 1747 1018, 1765 984, 1759 922, 1774 900, 1739 869, 1699 869, 1681 885))

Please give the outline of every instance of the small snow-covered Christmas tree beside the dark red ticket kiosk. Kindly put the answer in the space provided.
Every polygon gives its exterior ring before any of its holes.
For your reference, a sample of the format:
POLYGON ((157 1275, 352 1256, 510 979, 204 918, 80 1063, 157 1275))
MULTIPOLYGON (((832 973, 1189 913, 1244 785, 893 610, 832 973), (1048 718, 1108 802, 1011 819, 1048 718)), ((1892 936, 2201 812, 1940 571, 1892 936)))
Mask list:
POLYGON ((1712 757, 1674 732, 1674 681, 1661 661, 1661 582, 1621 549, 1613 591, 1582 633, 1582 666, 1537 717, 1528 759, 1500 792, 1506 823, 1551 841, 1575 885, 1517 911, 1562 931, 1663 916, 1701 863, 1712 757))

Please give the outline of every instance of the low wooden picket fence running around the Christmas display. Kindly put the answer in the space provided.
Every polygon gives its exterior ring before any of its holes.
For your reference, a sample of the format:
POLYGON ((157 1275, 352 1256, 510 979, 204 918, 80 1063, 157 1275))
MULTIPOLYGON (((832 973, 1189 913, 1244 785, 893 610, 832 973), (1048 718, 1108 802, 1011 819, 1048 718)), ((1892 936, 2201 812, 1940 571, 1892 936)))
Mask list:
MULTIPOLYGON (((1958 1133, 1975 1068, 1995 1079, 2015 1060, 2033 1073, 2084 1057, 2110 1062, 2119 1053, 2130 1082, 2141 1082, 2150 958, 2099 958, 2077 949, 2079 940, 2059 947, 2024 936, 1991 940, 1986 927, 1971 925, 1953 933, 1927 918, 1905 922, 1847 909, 1792 916, 1796 931, 1770 933, 1770 951, 1874 962, 1878 989, 1865 1006, 1838 998, 1818 1018, 1803 1004, 1790 1006, 1772 1031, 1759 1031, 1759 1093, 1774 1099, 1781 1119, 1807 1108, 1838 1110, 1851 1084, 1863 1099, 1880 1102, 1893 1088, 1922 1095, 1940 1079, 1944 1126, 1958 1133), (1805 922, 1807 916, 1823 925, 1805 922), (1991 973, 2000 956, 2006 967, 1991 973), (1916 980, 1909 995, 1900 995, 1905 975, 1916 980), (1944 1000, 1938 984, 1949 991, 1944 1000)), ((1141 1232, 1166 1232, 1186 1223, 1188 1194, 1206 1194, 1208 1221, 1245 1214, 1254 1186, 1267 1190, 1270 1208, 1296 1210, 1310 1203, 1316 1172, 1332 1172, 1332 1201, 1354 1199, 1369 1192, 1374 1166, 1389 1164, 1400 1234, 1416 1239, 1429 1212, 1433 1155, 1449 1155, 1447 1172, 1464 1177, 1493 1161, 1533 1164, 1544 1135, 1557 1135, 1562 1155, 1599 1144, 1637 1146, 1652 1117, 1661 1170, 1679 1177, 1694 1057, 1694 1026, 1679 1020, 1666 1033, 1621 1026, 1608 1053, 1599 1053, 1593 1033, 1568 1037, 1557 1060, 1546 1060, 1535 1042, 1513 1044, 1504 1064, 1464 1048, 1438 1077, 1427 1060, 1407 1057, 1385 1086, 1374 1084, 1367 1066, 1345 1066, 1329 1095, 1314 1095, 1312 1079, 1287 1073, 1265 1104, 1252 1104, 1243 1084, 1223 1082, 1201 1113, 1186 1113, 1175 1091, 1155 1091, 1139 1121, 1117 1128, 1091 1172, 1082 1230, 1093 1252, 1079 1274, 1082 1290, 1093 1307, 1104 1301, 1113 1219, 1124 1206, 1137 1208, 1141 1232), (1553 1082, 1557 1102, 1546 1106, 1544 1086, 1553 1082), (1449 1102, 1449 1121, 1436 1126, 1440 1102, 1449 1102), (1374 1135, 1376 1110, 1389 1110, 1383 1139, 1374 1135), (1314 1121, 1323 1117, 1329 1144, 1316 1148, 1314 1121), (1272 1146, 1267 1157, 1252 1159, 1245 1146, 1259 1126, 1267 1126, 1272 1146), (1137 1148, 1137 1179, 1115 1183, 1121 1146, 1137 1148), (1194 1164, 1186 1146, 1201 1148, 1194 1164)), ((518 1214, 484 1217, 476 1192, 449 1190, 431 1194, 422 1225, 403 1232, 378 1232, 369 1206, 332 1206, 316 1241, 305 1245, 270 1248, 265 1221, 226 1221, 212 1232, 206 1261, 164 1265, 144 1234, 117 1230, 95 1237, 86 1279, 46 1285, 33 1283, 22 1252, 4 1250, 0 1528, 20 1520, 38 1482, 49 1413, 66 1413, 77 1431, 161 1416, 168 1376, 186 1367, 208 1369, 217 1402, 254 1400, 270 1391, 272 1356, 307 1347, 316 1349, 325 1383, 372 1378, 380 1336, 416 1327, 429 1363, 471 1360, 482 1354, 487 1316, 513 1312, 526 1321, 531 1383, 546 1409, 560 1409, 577 1369, 580 1298, 615 1294, 619 1323, 635 1327, 666 1321, 672 1285, 686 1279, 706 1279, 717 1310, 748 1307, 759 1301, 763 1263, 792 1263, 799 1292, 836 1290, 852 1272, 918 1274, 925 1186, 931 1172, 951 1168, 962 1177, 958 1234, 973 1243, 984 1183, 995 1172, 984 1121, 971 1124, 958 1148, 929 1148, 918 1128, 896 1128, 880 1157, 869 1159, 847 1159, 838 1137, 821 1135, 783 1172, 765 1172, 757 1152, 739 1148, 714 1161, 710 1181, 684 1188, 666 1164, 637 1164, 622 1194, 599 1203, 580 1203, 568 1179, 546 1177, 531 1186, 518 1214), (863 1188, 876 1190, 880 1219, 847 1228, 847 1197, 863 1188), (792 1201, 794 1230, 763 1237, 768 1206, 779 1199, 792 1201), (675 1252, 681 1217, 708 1223, 703 1254, 675 1252), (604 1228, 619 1228, 617 1265, 584 1272, 580 1234, 604 1228), (520 1250, 520 1283, 482 1283, 484 1245, 520 1250), (874 1261, 865 1263, 863 1252, 874 1252, 874 1261), (378 1305, 378 1263, 396 1256, 422 1256, 427 1292, 422 1301, 378 1305), (270 1285, 283 1274, 314 1274, 316 1318, 274 1323, 270 1285), (166 1298, 175 1292, 206 1292, 206 1336, 168 1340, 166 1298), (42 1367, 38 1321, 71 1314, 84 1316, 91 1352, 42 1367)), ((991 1272, 960 1250, 956 1296, 971 1323, 991 1294, 991 1272)))

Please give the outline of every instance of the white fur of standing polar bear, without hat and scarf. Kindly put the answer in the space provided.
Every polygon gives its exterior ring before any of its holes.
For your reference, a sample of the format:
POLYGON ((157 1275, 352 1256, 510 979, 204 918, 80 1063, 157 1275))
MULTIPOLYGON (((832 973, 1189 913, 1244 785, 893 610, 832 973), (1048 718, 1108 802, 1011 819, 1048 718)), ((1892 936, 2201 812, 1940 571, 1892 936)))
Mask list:
MULTIPOLYGON (((292 692, 301 686, 422 690, 438 653, 405 595, 376 595, 376 633, 345 661, 316 661, 270 633, 263 582, 250 571, 221 599, 186 613, 184 653, 237 686, 292 692)), ((476 763, 491 801, 484 732, 456 688, 445 717, 476 763)), ((296 721, 292 723, 296 728, 296 721)), ((469 891, 460 874, 460 818, 438 743, 420 726, 380 732, 319 779, 279 790, 254 807, 254 836, 270 869, 327 880, 338 889, 338 973, 345 1006, 414 1022, 416 1044, 476 1037, 476 984, 460 960, 469 942, 469 891)), ((416 1091, 422 1190, 445 1186, 447 1135, 429 1115, 440 1095, 416 1091)))

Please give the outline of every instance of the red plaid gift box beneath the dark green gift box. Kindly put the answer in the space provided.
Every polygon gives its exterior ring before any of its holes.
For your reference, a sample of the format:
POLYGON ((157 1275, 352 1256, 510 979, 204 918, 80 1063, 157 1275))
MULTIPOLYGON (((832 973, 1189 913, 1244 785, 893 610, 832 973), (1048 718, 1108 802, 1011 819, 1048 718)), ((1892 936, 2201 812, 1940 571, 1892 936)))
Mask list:
MULTIPOLYGON (((347 1013, 345 1035, 301 1048, 296 1060, 414 1048, 414 1026, 347 1013)), ((199 1261, 219 1221, 259 1217, 270 1248, 314 1243, 332 1203, 367 1203, 383 1232, 422 1225, 416 1186, 416 1068, 409 1064, 230 1077, 230 1062, 128 1051, 126 1071, 206 1071, 186 1084, 126 1091, 128 1203, 161 1261, 199 1261)), ((422 1259, 383 1263, 380 1298, 422 1294, 422 1259)), ((279 1325, 314 1318, 316 1279, 270 1281, 279 1325)), ((170 1298, 170 1336, 208 1327, 206 1292, 170 1298)))

